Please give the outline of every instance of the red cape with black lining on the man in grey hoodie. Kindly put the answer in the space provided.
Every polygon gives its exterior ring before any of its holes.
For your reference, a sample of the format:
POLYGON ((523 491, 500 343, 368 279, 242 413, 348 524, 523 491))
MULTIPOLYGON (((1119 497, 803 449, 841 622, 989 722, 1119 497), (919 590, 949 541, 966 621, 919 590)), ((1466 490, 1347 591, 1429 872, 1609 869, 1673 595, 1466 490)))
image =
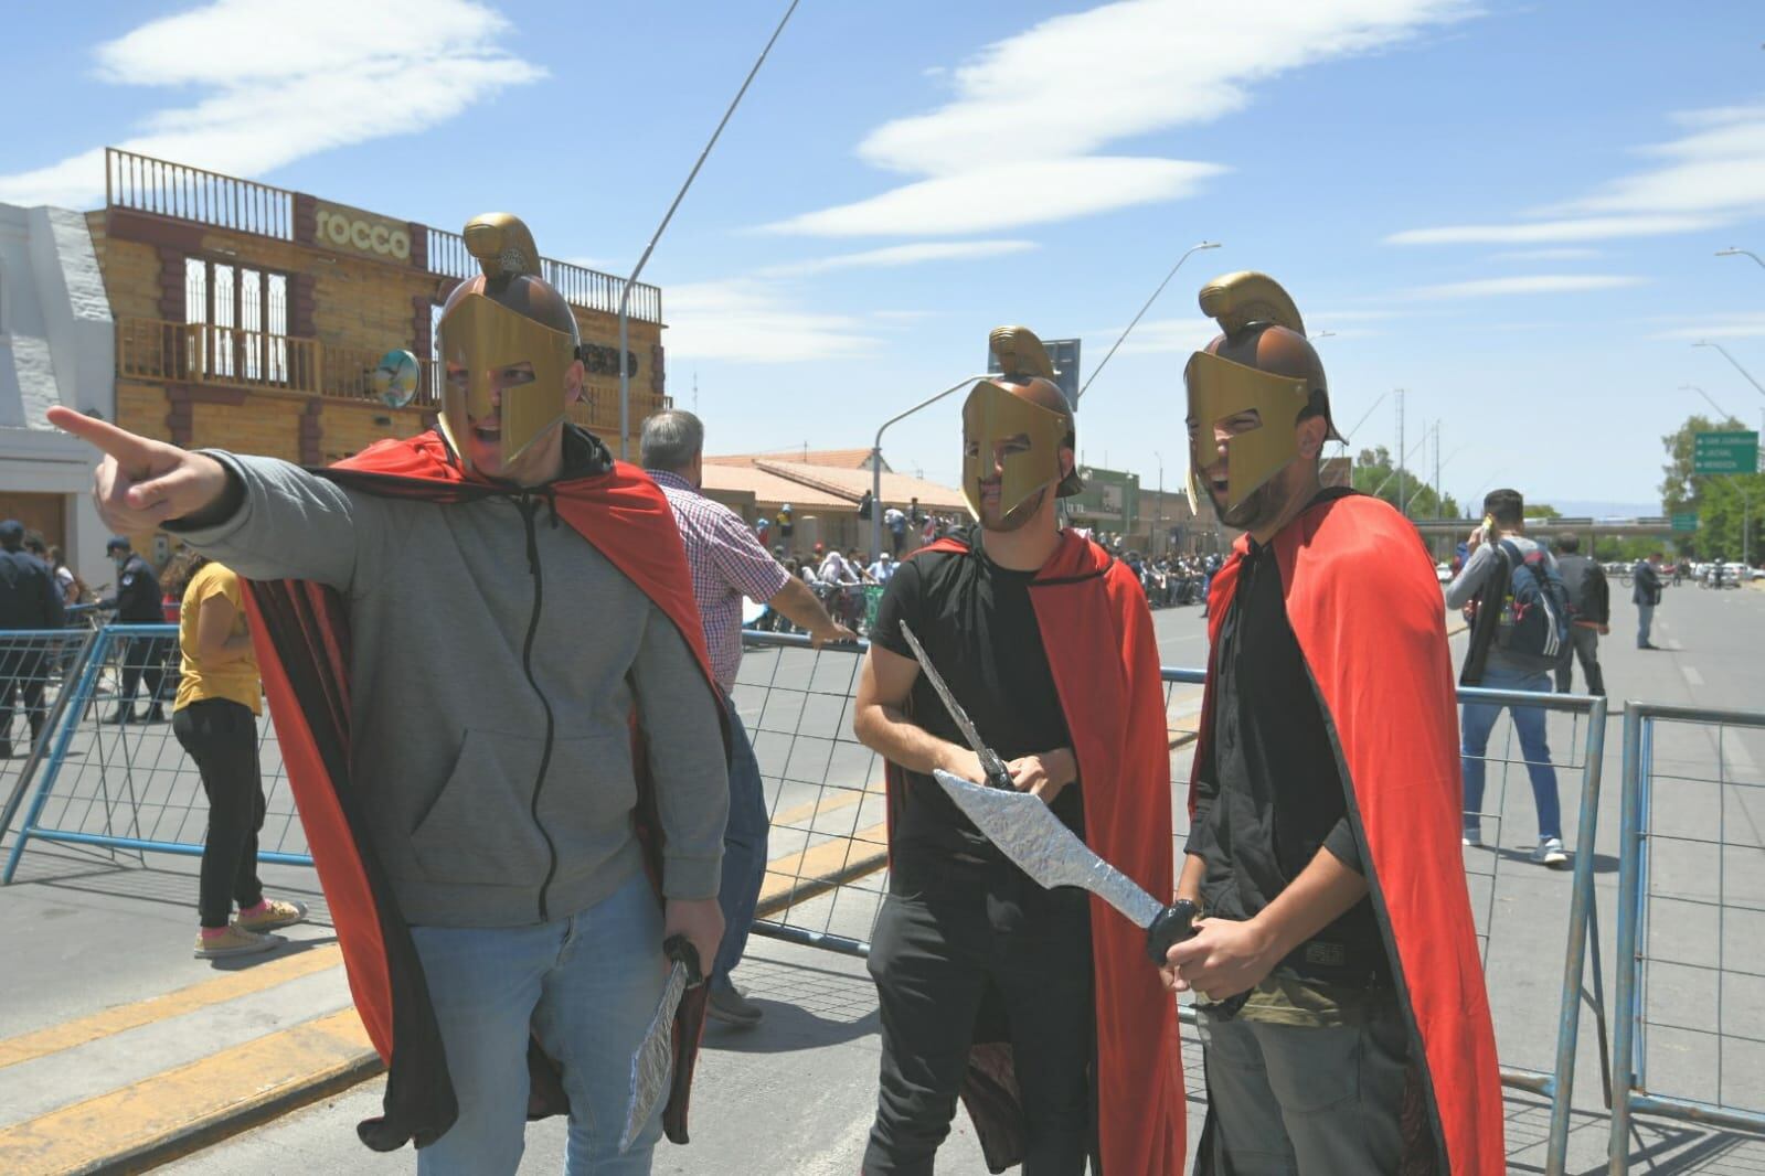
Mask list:
MULTIPOLYGON (((379 441, 314 473, 369 494, 432 502, 468 502, 505 492, 468 478, 434 432, 379 441)), ((657 485, 634 465, 609 462, 604 473, 552 483, 549 494, 558 517, 674 622, 715 695, 687 550, 657 485)), ((383 1118, 362 1123, 357 1132, 378 1151, 401 1148, 409 1139, 424 1146, 454 1125, 459 1105, 422 963, 374 850, 364 799, 349 778, 349 610, 335 589, 305 580, 247 582, 245 601, 270 718, 337 927, 349 991, 388 1070, 383 1118)), ((635 742, 635 721, 632 732, 635 742)), ((634 748, 632 762, 642 776, 648 760, 641 746, 634 748)), ((662 829, 646 779, 639 779, 637 834, 651 880, 658 880, 662 829)), ((687 1143, 688 1090, 708 991, 708 986, 690 989, 674 1023, 674 1084, 662 1116, 674 1143, 687 1143)), ((537 1042, 530 1044, 528 1067, 533 1077, 530 1118, 567 1111, 558 1067, 537 1042)))

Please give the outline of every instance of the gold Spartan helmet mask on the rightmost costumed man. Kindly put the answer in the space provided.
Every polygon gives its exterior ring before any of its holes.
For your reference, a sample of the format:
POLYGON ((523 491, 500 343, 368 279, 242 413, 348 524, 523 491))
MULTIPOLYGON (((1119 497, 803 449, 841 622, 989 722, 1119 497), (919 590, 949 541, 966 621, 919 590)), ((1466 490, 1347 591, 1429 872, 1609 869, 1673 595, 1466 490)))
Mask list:
MULTIPOLYGON (((1202 501, 1202 471, 1220 457, 1220 421, 1255 413, 1260 421, 1225 443, 1230 511, 1299 457, 1294 428, 1306 409, 1329 423, 1324 363, 1306 342, 1299 309, 1267 273, 1243 270, 1202 287, 1202 312, 1223 335, 1190 356, 1190 501, 1202 501)), ((1331 441, 1341 441, 1334 425, 1331 441)))

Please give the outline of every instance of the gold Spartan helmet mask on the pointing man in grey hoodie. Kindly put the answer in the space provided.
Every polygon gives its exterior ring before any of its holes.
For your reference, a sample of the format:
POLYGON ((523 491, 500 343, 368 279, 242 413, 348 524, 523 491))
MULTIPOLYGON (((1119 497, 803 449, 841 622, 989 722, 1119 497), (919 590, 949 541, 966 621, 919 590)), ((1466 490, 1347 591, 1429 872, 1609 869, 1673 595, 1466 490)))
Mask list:
POLYGON ((441 309, 439 353, 447 365, 441 391, 441 428, 461 462, 473 421, 492 411, 501 427, 503 465, 565 418, 565 379, 577 358, 575 314, 556 289, 540 279, 540 254, 528 226, 507 212, 466 222, 466 250, 484 270, 461 282, 441 309), (492 407, 496 376, 528 363, 533 379, 503 386, 492 407))

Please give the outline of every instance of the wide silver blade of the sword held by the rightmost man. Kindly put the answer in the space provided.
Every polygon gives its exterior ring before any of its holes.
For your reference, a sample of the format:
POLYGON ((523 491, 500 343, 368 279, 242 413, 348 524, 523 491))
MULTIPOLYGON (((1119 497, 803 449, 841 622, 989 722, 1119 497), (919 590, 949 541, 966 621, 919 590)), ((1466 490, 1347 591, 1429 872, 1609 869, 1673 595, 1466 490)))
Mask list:
POLYGON ((957 808, 974 822, 974 827, 987 834, 987 839, 1038 885, 1091 890, 1133 920, 1137 927, 1151 927, 1153 920, 1163 913, 1163 903, 1098 857, 1096 850, 1061 823, 1061 818, 1041 797, 1017 790, 985 788, 943 769, 932 776, 957 802, 957 808))

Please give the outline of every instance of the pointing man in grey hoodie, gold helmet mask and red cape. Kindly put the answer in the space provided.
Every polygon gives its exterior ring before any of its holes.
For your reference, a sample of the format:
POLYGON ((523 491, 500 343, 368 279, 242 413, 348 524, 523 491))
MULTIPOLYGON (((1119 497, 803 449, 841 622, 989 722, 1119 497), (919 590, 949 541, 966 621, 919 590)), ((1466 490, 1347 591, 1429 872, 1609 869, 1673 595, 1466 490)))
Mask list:
POLYGON ((341 467, 185 451, 67 409, 99 513, 247 580, 270 714, 383 1114, 424 1176, 510 1176, 568 1113, 568 1171, 648 1172, 687 1139, 704 986, 632 1127, 669 957, 710 966, 729 806, 717 682, 680 531, 568 420, 575 314, 508 213, 462 233, 438 428, 341 467))

